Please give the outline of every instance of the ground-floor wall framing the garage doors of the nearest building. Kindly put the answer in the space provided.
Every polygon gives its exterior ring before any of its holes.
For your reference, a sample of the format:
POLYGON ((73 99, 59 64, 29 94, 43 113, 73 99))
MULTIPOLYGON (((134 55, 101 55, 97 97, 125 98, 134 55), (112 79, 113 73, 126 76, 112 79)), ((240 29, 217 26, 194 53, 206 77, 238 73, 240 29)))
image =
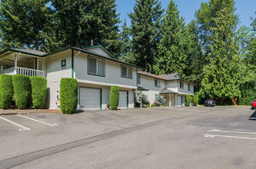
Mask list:
MULTIPOLYGON (((85 83, 78 83, 78 109, 80 108, 79 105, 79 88, 80 87, 87 87, 87 88, 101 88, 101 109, 107 109, 107 101, 109 102, 110 98, 110 91, 111 86, 103 86, 103 85, 91 85, 91 84, 85 84, 85 83)), ((128 91, 128 108, 134 108, 134 100, 133 100, 133 90, 129 88, 119 88, 119 90, 122 91, 128 91)))

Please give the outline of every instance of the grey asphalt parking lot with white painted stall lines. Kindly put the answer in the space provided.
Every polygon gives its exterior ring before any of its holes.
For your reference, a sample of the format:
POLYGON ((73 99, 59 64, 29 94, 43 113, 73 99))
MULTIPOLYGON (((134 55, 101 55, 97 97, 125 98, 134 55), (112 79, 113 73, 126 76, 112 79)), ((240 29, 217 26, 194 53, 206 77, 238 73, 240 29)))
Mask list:
POLYGON ((250 107, 0 116, 0 168, 255 168, 250 107))

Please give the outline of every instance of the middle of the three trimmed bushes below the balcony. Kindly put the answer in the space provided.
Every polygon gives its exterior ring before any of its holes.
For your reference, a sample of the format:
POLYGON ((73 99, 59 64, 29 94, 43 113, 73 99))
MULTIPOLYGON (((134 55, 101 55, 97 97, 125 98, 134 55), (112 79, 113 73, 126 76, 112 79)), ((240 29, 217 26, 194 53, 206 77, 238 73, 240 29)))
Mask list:
POLYGON ((27 107, 29 95, 29 77, 25 75, 12 76, 15 93, 15 103, 18 109, 27 107))

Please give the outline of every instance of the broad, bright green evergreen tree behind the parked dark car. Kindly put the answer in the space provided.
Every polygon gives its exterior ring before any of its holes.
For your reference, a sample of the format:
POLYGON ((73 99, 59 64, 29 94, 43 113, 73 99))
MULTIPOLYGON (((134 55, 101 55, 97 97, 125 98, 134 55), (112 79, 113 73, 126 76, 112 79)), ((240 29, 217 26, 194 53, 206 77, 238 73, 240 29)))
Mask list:
POLYGON ((207 58, 209 64, 204 66, 200 94, 202 98, 239 97, 244 68, 234 34, 238 25, 234 1, 211 2, 216 3, 214 5, 218 5, 219 10, 211 17, 214 24, 209 27, 212 33, 207 58))

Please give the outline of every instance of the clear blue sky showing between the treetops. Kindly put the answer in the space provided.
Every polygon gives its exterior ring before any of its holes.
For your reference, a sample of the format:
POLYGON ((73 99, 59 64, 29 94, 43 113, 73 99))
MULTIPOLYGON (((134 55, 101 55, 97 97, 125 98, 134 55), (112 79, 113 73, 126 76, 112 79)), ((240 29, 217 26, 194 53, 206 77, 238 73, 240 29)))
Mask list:
MULTIPOLYGON (((158 0, 161 2, 162 8, 167 8, 169 0, 158 0)), ((208 0, 175 0, 178 5, 180 15, 185 18, 188 24, 194 18, 194 12, 200 8, 201 2, 208 2, 208 0)), ((122 22, 127 20, 128 26, 131 25, 128 13, 133 12, 135 0, 116 0, 118 5, 117 12, 120 13, 120 20, 122 22)), ((251 24, 251 17, 256 18, 256 0, 235 0, 237 8, 236 14, 240 16, 241 25, 249 26, 251 24)))

